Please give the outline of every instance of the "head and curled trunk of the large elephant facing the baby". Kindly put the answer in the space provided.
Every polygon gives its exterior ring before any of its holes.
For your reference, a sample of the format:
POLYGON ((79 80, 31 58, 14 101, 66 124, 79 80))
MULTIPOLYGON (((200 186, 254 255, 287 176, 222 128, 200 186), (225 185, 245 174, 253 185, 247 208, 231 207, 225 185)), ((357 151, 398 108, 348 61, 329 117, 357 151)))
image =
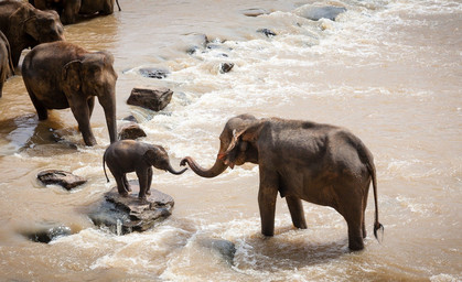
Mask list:
POLYGON ((246 162, 258 163, 256 143, 264 124, 265 121, 251 115, 234 117, 228 120, 219 135, 219 151, 211 169, 203 169, 191 156, 184 158, 180 164, 187 163, 191 170, 202 177, 215 177, 228 166, 233 169, 246 162))

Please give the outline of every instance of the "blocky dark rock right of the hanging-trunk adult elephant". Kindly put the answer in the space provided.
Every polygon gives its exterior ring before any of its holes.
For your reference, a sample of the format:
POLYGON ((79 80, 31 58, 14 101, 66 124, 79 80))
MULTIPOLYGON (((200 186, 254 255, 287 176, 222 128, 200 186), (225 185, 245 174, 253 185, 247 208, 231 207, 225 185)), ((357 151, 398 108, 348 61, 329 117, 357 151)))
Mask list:
POLYGON ((127 104, 160 111, 169 105, 172 95, 173 91, 168 88, 133 88, 127 104))

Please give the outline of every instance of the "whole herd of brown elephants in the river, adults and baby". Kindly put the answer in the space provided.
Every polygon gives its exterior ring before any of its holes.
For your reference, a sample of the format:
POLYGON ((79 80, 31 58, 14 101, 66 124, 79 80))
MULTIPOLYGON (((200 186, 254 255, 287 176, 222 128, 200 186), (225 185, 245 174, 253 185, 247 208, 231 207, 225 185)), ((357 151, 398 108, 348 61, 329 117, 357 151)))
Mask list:
MULTIPOLYGON (((117 141, 116 80, 114 57, 107 52, 87 52, 66 42, 62 22, 73 23, 79 13, 114 11, 115 0, 0 1, 0 97, 2 84, 18 66, 22 50, 32 47, 22 63, 22 77, 40 120, 50 109, 71 108, 86 145, 96 144, 89 119, 95 97, 103 106, 110 145, 105 162, 116 178, 119 194, 128 196, 126 174, 137 172, 141 200, 149 195, 152 167, 174 171, 165 150, 132 140, 117 141), (61 20, 60 20, 61 15, 61 20)), ((117 3, 118 4, 118 3, 117 3)), ((119 8, 120 9, 120 8, 119 8)), ((251 115, 230 118, 221 135, 215 163, 203 169, 191 156, 189 165, 202 177, 215 177, 227 167, 259 165, 258 205, 261 232, 275 232, 277 195, 286 198, 293 226, 305 229, 302 200, 330 206, 347 224, 348 247, 364 249, 365 210, 373 185, 374 235, 383 231, 378 221, 377 177, 370 151, 348 130, 330 124, 279 118, 257 119, 251 115)), ((105 170, 106 174, 106 170, 105 170)), ((107 176, 106 176, 107 177, 107 176)))

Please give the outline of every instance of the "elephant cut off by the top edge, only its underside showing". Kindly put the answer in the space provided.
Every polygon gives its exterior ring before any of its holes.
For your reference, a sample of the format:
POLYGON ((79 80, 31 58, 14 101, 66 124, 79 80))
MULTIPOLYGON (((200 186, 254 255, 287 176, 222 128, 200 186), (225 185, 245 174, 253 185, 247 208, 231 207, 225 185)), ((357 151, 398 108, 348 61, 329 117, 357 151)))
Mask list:
POLYGON ((30 3, 41 10, 55 10, 61 15, 64 24, 75 23, 78 14, 111 14, 114 4, 120 9, 118 0, 29 0, 30 3))

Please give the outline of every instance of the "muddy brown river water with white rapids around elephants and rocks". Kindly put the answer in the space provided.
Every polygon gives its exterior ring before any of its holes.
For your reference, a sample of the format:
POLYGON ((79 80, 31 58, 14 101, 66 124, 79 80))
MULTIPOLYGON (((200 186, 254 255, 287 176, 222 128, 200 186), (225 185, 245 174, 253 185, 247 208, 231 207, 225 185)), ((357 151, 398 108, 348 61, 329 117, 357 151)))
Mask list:
POLYGON ((144 141, 166 148, 175 167, 185 155, 212 165, 226 120, 244 112, 348 128, 375 156, 382 243, 369 236, 364 251, 350 252, 344 219, 309 203, 309 228, 297 230, 280 198, 276 235, 264 238, 258 166, 250 164, 211 180, 157 171, 152 187, 175 199, 169 219, 143 234, 97 229, 87 212, 115 186, 101 167, 109 143, 101 107, 92 119, 98 145, 87 148, 69 110, 37 121, 18 75, 0 99, 0 280, 461 281, 461 1, 314 3, 346 8, 336 21, 303 18, 313 3, 120 0, 121 12, 68 25, 65 36, 115 55, 118 123, 135 116, 144 141), (251 8, 268 14, 244 15, 251 8), (222 63, 234 67, 222 74, 222 63), (143 67, 169 75, 146 78, 143 67), (137 86, 174 95, 150 112, 126 105, 137 86), (73 192, 44 187, 36 174, 46 169, 88 182, 73 192), (21 235, 50 223, 73 235, 49 245, 21 235), (206 239, 235 243, 233 263, 204 247, 206 239))

